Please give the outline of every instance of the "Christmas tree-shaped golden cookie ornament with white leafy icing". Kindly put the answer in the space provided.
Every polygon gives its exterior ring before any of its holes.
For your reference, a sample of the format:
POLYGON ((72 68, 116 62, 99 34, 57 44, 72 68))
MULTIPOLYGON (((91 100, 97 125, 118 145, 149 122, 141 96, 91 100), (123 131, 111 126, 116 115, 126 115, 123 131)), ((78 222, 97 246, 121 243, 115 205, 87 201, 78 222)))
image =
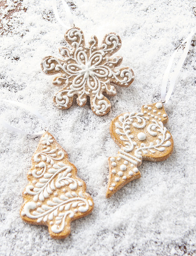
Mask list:
POLYGON ((32 156, 27 175, 22 220, 48 226, 53 238, 62 239, 71 231, 71 221, 92 212, 94 203, 86 193, 86 184, 77 177, 77 169, 68 161, 66 151, 48 132, 42 135, 32 156))

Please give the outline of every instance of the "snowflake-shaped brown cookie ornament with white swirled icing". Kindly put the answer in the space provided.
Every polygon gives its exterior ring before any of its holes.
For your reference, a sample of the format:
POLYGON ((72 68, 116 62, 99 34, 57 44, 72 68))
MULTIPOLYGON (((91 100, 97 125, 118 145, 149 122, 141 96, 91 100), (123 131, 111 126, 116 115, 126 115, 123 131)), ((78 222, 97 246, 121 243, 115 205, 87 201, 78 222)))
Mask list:
POLYGON ((70 108, 77 95, 77 104, 83 107, 89 96, 93 112, 106 115, 111 104, 103 93, 114 96, 114 84, 128 87, 134 80, 132 69, 116 69, 122 57, 111 57, 121 47, 120 37, 115 33, 106 34, 100 47, 96 36, 85 45, 84 34, 77 27, 67 30, 64 37, 70 46, 59 49, 64 59, 48 56, 41 63, 45 74, 60 74, 53 84, 64 88, 54 96, 55 105, 60 109, 70 108))

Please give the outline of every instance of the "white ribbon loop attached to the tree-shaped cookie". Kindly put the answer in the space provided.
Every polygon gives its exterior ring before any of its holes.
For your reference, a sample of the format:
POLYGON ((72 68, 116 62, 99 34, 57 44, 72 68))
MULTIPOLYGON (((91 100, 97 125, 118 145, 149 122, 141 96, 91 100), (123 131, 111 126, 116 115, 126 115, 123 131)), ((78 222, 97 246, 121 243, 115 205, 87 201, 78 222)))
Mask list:
POLYGON ((12 100, 3 99, 1 101, 3 103, 10 103, 12 105, 15 105, 15 106, 18 106, 18 107, 21 107, 21 108, 24 108, 24 109, 28 110, 32 114, 39 117, 46 124, 46 128, 44 130, 39 131, 37 133, 29 133, 29 132, 23 131, 21 129, 18 129, 18 128, 12 126, 12 125, 9 125, 3 118, 0 117, 0 124, 3 125, 4 128, 9 129, 10 131, 15 131, 15 132, 26 134, 26 135, 42 135, 45 131, 48 131, 48 121, 42 115, 40 115, 40 113, 35 108, 29 107, 28 105, 22 104, 20 102, 15 102, 15 101, 12 101, 12 100))

